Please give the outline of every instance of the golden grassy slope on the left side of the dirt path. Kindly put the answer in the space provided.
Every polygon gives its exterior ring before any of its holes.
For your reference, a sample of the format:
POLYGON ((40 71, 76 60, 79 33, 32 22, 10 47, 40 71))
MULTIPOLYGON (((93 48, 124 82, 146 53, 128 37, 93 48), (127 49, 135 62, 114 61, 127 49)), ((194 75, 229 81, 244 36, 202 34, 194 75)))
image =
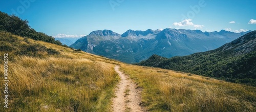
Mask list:
POLYGON ((1 74, 9 56, 9 108, 0 111, 111 111, 115 61, 2 31, 0 42, 1 74))

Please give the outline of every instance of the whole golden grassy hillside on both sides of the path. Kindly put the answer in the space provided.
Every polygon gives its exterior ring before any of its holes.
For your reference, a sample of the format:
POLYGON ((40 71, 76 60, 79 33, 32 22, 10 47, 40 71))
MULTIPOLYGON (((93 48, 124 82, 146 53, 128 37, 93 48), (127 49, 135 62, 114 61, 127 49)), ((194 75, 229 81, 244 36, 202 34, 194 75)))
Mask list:
POLYGON ((124 64, 3 31, 0 43, 0 74, 4 53, 9 60, 9 108, 1 103, 0 111, 112 111, 116 64, 142 88, 148 111, 256 111, 256 87, 124 64))

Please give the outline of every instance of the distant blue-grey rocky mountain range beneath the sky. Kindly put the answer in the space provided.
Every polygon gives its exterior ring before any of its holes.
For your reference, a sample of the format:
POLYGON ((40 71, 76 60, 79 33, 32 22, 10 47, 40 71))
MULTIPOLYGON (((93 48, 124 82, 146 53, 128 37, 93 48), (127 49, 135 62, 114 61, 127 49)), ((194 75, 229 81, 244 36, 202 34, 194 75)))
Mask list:
POLYGON ((126 63, 137 63, 153 54, 170 58, 213 50, 248 32, 148 29, 127 30, 120 35, 111 30, 98 30, 78 39, 70 47, 126 63))

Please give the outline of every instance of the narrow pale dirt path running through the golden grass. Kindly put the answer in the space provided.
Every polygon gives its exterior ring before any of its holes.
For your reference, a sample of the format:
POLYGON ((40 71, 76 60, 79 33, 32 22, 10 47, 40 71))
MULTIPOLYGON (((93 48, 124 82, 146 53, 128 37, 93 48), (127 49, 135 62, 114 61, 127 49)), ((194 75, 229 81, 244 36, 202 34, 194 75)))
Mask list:
POLYGON ((121 78, 113 99, 113 111, 143 111, 139 105, 141 102, 140 89, 128 76, 119 71, 119 66, 115 66, 115 71, 121 78))

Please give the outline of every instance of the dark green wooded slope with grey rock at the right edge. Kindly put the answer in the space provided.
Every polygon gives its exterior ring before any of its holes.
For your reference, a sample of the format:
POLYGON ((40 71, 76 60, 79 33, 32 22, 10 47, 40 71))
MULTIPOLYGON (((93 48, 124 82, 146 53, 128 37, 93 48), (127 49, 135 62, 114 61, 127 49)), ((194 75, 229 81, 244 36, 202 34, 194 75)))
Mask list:
POLYGON ((189 72, 256 86, 255 43, 256 31, 252 31, 216 50, 161 60, 154 60, 151 57, 139 65, 189 72))

